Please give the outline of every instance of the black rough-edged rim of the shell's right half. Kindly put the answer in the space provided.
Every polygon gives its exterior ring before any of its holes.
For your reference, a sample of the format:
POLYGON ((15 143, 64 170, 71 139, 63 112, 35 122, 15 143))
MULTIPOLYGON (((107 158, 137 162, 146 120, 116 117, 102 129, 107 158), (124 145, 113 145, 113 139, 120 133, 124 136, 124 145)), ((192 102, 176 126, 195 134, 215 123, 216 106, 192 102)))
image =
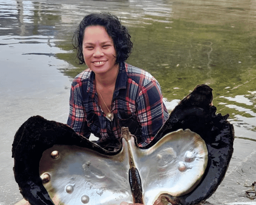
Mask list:
MULTIPOLYGON (((206 200, 216 191, 228 169, 233 154, 234 127, 227 121, 228 114, 216 115, 212 99, 212 89, 209 86, 197 85, 174 108, 151 142, 155 143, 171 131, 190 129, 199 134, 207 145, 208 165, 200 184, 184 196, 171 196, 172 203, 192 205, 206 200)), ((150 147, 150 144, 145 148, 150 147)))

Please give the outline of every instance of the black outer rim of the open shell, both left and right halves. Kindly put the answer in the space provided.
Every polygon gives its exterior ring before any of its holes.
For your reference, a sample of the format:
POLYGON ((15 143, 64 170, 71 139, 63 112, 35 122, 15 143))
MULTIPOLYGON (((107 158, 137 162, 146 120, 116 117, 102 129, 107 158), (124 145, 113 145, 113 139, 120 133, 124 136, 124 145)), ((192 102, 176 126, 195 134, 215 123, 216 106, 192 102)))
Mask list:
MULTIPOLYGON (((227 121, 228 115, 216 115, 212 105, 212 89, 198 85, 171 112, 169 119, 146 147, 155 145, 166 134, 178 129, 190 129, 199 134, 208 149, 208 164, 200 183, 183 196, 167 196, 173 204, 198 204, 211 196, 223 180, 233 154, 234 129, 227 121)), ((14 136, 12 157, 14 177, 21 194, 32 205, 54 205, 39 175, 42 153, 53 145, 77 145, 113 156, 118 154, 104 150, 87 138, 80 136, 66 124, 34 116, 24 122, 14 136)), ((138 202, 140 199, 137 200, 138 202)))

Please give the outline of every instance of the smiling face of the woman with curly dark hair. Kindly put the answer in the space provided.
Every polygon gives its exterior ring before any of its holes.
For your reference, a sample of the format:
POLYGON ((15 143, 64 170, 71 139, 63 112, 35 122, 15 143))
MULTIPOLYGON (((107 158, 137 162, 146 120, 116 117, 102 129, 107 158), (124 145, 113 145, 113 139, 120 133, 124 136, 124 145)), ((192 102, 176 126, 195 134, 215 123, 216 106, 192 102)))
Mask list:
POLYGON ((95 74, 118 69, 113 40, 103 26, 93 25, 85 28, 82 48, 85 64, 95 74))

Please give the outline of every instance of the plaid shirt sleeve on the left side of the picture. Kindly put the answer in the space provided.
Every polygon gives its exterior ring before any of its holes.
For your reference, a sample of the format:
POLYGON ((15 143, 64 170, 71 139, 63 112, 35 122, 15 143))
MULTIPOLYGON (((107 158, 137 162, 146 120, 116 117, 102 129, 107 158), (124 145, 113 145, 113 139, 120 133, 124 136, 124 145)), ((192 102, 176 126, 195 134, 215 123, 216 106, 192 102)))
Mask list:
POLYGON ((72 127, 76 133, 89 138, 90 131, 85 118, 85 107, 82 103, 81 87, 75 80, 70 89, 69 106, 70 109, 67 124, 72 127))

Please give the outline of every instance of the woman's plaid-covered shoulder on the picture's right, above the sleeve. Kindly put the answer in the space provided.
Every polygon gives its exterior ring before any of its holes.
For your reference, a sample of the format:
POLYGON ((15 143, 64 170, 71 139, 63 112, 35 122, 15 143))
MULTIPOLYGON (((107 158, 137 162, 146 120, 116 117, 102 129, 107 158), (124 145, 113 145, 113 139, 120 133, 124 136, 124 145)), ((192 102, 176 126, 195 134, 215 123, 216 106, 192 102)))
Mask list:
POLYGON ((127 63, 125 64, 125 68, 128 78, 140 86, 148 85, 148 83, 157 83, 157 80, 143 69, 134 67, 127 63))

